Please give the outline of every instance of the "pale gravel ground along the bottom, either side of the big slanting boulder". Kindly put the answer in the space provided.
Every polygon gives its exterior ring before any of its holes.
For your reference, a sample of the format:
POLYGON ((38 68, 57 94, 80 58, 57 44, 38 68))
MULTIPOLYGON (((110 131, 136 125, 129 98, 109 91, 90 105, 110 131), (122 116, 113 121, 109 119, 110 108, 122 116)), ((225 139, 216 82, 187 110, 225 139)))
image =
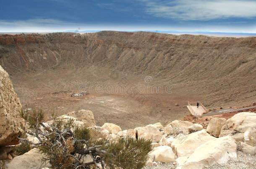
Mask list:
MULTIPOLYGON (((208 169, 256 169, 256 155, 245 154, 241 151, 237 151, 237 155, 237 159, 230 159, 223 165, 215 164, 208 169)), ((176 162, 156 162, 154 166, 146 166, 143 169, 175 169, 177 166, 176 162)))

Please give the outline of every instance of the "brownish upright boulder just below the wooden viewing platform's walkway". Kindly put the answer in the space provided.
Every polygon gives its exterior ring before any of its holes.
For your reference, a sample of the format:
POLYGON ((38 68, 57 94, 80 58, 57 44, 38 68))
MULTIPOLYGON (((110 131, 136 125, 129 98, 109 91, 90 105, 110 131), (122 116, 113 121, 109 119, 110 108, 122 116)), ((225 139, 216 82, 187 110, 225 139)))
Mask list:
POLYGON ((214 137, 219 137, 222 126, 227 122, 225 118, 213 118, 209 121, 206 131, 214 137))

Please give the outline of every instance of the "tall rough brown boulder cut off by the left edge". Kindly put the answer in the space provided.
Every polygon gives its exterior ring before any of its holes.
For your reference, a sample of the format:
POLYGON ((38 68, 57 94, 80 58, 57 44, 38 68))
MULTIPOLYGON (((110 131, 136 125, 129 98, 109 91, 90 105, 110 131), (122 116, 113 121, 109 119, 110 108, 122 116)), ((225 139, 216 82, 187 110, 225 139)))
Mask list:
POLYGON ((19 144, 25 121, 19 115, 21 103, 13 91, 8 73, 0 66, 0 146, 19 144))

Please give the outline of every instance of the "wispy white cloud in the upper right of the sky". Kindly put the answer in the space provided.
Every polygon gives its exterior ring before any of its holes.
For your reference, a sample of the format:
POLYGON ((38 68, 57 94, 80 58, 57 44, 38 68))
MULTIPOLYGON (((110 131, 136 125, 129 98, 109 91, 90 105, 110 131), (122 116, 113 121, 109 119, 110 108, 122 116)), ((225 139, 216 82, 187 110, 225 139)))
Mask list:
POLYGON ((146 12, 176 20, 213 20, 256 17, 255 0, 140 0, 146 12))

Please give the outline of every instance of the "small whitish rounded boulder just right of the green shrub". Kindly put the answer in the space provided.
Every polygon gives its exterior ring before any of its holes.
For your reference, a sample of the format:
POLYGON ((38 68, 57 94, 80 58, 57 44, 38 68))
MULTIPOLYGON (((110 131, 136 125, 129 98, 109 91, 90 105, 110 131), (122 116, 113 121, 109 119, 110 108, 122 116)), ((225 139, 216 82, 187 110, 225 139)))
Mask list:
POLYGON ((154 161, 160 162, 174 162, 175 155, 169 146, 158 146, 150 153, 154 155, 154 161))

